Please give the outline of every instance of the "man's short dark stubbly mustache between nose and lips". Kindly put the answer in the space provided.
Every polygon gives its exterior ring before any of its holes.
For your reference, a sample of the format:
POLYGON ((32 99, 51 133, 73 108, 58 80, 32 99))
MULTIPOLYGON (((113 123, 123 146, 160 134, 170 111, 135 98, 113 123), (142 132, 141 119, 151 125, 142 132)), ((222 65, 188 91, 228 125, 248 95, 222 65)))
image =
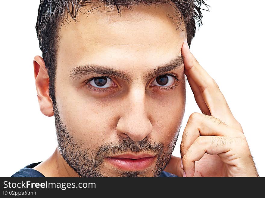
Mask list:
POLYGON ((95 155, 102 157, 110 157, 114 154, 121 154, 125 152, 148 152, 155 155, 160 155, 163 150, 163 143, 151 142, 149 137, 145 137, 145 139, 138 142, 134 142, 132 139, 127 137, 126 139, 121 140, 119 144, 110 143, 107 145, 101 145, 95 155))

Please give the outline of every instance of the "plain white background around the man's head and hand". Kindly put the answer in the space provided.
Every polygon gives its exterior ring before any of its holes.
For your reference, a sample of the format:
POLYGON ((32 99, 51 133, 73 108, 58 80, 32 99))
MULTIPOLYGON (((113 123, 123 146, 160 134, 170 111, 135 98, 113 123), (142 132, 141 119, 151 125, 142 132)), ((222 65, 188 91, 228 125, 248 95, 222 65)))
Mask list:
MULTIPOLYGON (((207 1, 203 26, 191 51, 215 79, 235 118, 241 123, 260 176, 265 176, 264 7, 261 0, 207 1)), ((39 1, 1 2, 0 176, 11 176, 55 150, 54 117, 39 111, 33 57, 41 55, 35 24, 39 1), (30 3, 29 3, 30 2, 30 3)), ((187 84, 186 112, 173 152, 189 115, 200 112, 187 84)))

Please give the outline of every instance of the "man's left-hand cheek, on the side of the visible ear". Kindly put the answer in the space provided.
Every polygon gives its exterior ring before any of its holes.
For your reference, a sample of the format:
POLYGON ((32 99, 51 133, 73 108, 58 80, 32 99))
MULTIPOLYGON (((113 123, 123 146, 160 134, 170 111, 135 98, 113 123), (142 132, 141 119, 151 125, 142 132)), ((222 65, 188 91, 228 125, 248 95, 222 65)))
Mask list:
POLYGON ((110 134, 114 133, 115 128, 111 123, 116 104, 102 104, 70 88, 56 94, 61 120, 75 139, 81 140, 89 148, 112 141, 110 134))

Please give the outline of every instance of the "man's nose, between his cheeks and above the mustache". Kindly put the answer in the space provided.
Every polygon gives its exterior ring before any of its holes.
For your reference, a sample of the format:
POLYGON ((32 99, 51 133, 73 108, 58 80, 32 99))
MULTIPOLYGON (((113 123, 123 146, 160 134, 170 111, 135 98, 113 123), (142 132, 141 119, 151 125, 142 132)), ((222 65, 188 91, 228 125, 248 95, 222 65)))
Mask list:
POLYGON ((141 141, 147 137, 153 126, 148 118, 145 89, 137 89, 129 92, 123 99, 121 117, 117 123, 117 133, 133 141, 141 141))

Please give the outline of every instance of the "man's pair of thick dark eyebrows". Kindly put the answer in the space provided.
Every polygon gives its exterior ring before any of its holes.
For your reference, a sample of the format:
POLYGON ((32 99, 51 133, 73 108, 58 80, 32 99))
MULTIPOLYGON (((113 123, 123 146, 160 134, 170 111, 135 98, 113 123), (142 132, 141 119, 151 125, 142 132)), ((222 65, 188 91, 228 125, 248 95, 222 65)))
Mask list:
MULTIPOLYGON (((145 75, 145 81, 149 79, 162 75, 166 72, 169 72, 174 69, 178 69, 183 64, 183 56, 176 56, 170 62, 155 67, 152 71, 148 72, 145 75)), ((112 76, 115 78, 120 78, 128 83, 132 81, 132 77, 129 75, 128 72, 123 72, 120 70, 112 69, 108 66, 104 65, 95 65, 95 64, 86 64, 86 65, 79 65, 76 66, 74 69, 70 71, 70 77, 73 79, 82 78, 86 75, 104 75, 104 76, 112 76)))

